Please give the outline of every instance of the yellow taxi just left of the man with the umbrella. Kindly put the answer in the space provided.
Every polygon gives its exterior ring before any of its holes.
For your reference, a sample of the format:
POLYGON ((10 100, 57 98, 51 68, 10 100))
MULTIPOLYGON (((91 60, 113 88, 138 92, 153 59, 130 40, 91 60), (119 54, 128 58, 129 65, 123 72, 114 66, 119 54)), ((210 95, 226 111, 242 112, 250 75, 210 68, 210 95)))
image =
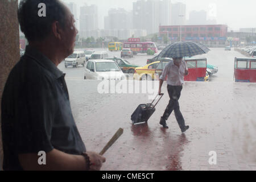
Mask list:
POLYGON ((134 79, 135 80, 155 80, 156 75, 163 72, 164 67, 168 64, 168 61, 155 61, 147 64, 144 67, 135 68, 134 79))

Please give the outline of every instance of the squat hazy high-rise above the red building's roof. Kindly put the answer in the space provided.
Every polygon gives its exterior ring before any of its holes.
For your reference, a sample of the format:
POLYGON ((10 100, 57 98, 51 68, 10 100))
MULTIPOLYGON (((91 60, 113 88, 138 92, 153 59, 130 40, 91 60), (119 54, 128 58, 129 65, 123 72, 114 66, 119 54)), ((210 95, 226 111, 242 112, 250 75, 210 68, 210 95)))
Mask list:
POLYGON ((207 24, 207 11, 191 11, 188 24, 207 24))

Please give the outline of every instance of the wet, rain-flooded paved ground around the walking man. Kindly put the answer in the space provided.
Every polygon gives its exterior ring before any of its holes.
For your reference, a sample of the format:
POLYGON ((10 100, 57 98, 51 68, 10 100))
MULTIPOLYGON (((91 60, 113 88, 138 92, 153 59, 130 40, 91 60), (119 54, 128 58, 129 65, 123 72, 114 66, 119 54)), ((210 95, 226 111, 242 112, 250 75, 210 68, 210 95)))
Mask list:
MULTIPOLYGON (((119 52, 110 52, 118 56, 119 52)), ((123 134, 104 154, 102 170, 255 170, 256 169, 256 84, 233 81, 236 51, 212 48, 204 55, 218 67, 210 82, 186 82, 179 100, 189 130, 181 134, 174 113, 168 130, 159 125, 167 104, 164 96, 156 111, 142 125, 131 125, 130 116, 139 104, 148 103, 148 94, 100 94, 100 81, 84 80, 84 68, 59 68, 66 75, 71 106, 87 150, 100 152, 119 127, 123 134), (210 165, 209 152, 217 154, 210 165)), ((127 59, 146 65, 152 56, 127 59)), ((156 84, 158 82, 156 81, 156 84)))

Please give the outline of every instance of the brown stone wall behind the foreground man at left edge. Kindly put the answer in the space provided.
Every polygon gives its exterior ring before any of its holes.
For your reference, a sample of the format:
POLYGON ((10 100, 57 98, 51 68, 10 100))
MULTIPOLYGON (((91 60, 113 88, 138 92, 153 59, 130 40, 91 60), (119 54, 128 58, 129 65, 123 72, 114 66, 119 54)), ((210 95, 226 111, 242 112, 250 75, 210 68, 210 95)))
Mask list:
MULTIPOLYGON (((19 60, 19 26, 17 9, 18 0, 0 1, 0 100, 2 100, 3 88, 10 70, 19 60)), ((2 169, 2 160, 2 132, 0 127, 0 170, 2 169)))

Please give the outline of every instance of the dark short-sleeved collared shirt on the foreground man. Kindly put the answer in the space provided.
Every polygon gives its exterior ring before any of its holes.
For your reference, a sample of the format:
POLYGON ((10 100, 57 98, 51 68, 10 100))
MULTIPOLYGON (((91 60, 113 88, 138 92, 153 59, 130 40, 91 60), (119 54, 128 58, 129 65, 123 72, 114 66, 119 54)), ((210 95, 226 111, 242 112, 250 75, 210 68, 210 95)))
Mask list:
POLYGON ((22 170, 18 154, 86 151, 64 74, 31 46, 11 70, 2 95, 3 169, 22 170))

